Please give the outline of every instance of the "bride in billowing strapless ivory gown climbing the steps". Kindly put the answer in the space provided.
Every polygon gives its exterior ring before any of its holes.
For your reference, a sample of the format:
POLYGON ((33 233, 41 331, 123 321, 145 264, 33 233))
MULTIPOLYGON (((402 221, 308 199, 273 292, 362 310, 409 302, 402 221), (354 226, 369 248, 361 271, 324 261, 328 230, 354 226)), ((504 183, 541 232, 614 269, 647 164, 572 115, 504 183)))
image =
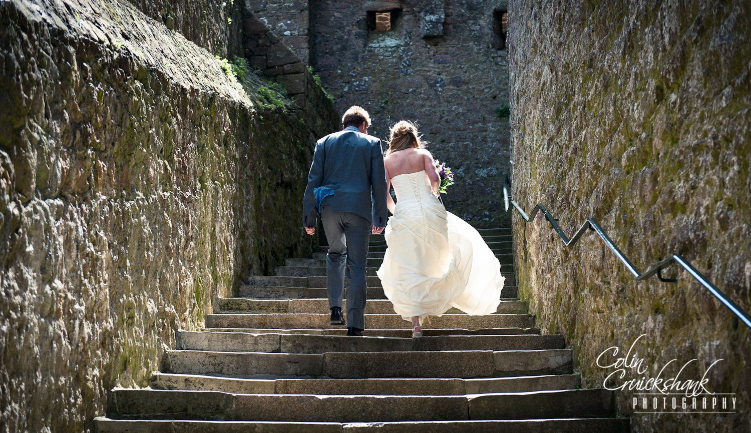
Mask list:
POLYGON ((384 159, 386 182, 397 203, 386 198, 389 218, 386 253, 377 275, 394 311, 412 321, 412 336, 422 335, 428 316, 451 307, 467 314, 496 311, 504 278, 493 251, 480 233, 438 200, 439 177, 412 122, 391 127, 384 159))

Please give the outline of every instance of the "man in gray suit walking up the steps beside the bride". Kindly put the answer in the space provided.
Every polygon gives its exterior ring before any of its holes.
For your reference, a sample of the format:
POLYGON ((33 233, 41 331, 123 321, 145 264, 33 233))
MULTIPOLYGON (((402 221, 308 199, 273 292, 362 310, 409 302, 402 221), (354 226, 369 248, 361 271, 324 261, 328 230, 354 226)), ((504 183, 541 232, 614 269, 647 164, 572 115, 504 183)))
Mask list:
POLYGON ((326 289, 331 324, 344 325, 342 293, 347 276, 347 335, 363 335, 368 240, 386 226, 386 176, 381 140, 367 134, 370 116, 352 106, 344 129, 315 143, 303 197, 303 227, 315 233, 318 215, 329 250, 326 289))

